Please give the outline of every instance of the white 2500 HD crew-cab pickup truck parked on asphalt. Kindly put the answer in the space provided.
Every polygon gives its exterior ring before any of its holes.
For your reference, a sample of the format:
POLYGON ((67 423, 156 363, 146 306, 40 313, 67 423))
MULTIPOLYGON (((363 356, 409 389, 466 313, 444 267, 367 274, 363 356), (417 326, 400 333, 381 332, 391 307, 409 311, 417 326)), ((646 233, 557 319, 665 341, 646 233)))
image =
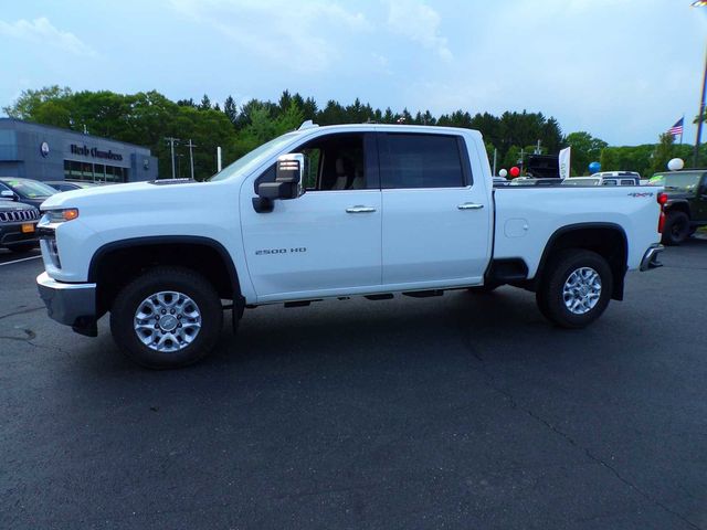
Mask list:
POLYGON ((493 188, 479 132, 303 125, 208 182, 157 180, 60 193, 42 204, 53 319, 110 329, 151 368, 197 361, 224 309, 352 295, 434 296, 509 284, 579 328, 627 269, 657 266, 658 189, 493 188))

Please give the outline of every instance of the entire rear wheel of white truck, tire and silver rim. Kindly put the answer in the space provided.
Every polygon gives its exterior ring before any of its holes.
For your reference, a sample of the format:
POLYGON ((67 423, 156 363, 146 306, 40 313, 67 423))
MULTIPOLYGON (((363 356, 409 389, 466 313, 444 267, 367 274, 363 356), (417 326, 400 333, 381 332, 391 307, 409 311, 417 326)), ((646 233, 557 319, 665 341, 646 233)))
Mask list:
POLYGON ((613 289, 611 268, 584 250, 559 253, 547 265, 536 292, 540 312, 563 328, 583 328, 606 309, 613 289))

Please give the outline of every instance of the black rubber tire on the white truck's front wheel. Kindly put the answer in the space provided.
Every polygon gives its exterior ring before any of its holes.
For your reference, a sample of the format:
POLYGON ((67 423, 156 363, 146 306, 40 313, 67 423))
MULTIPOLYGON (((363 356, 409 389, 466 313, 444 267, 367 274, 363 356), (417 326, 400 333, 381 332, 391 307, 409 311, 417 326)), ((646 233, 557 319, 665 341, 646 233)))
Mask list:
POLYGON ((138 276, 118 293, 110 308, 110 332, 115 342, 133 361, 151 369, 181 368, 199 361, 215 347, 222 326, 223 308, 219 294, 203 276, 181 267, 155 267, 138 276), (157 300, 150 295, 169 292, 181 295, 180 297, 162 296, 162 299, 172 300, 177 307, 177 316, 169 319, 172 325, 171 330, 163 330, 156 324, 159 319, 167 319, 169 312, 172 311, 170 309, 161 311, 161 315, 160 311, 155 311, 152 315, 156 317, 148 316, 148 318, 140 320, 145 326, 138 333, 135 328, 138 308, 147 307, 144 303, 148 298, 152 301, 157 300), (191 300, 184 301, 187 298, 191 300), (181 306, 179 306, 180 303, 181 306), (191 318, 194 315, 199 317, 191 318), (175 320, 182 316, 183 319, 175 320), (183 328, 179 322, 184 324, 183 328), (197 330, 198 324, 201 327, 197 330), (152 347, 144 343, 143 340, 150 340, 148 335, 151 332, 149 328, 152 326, 157 329, 152 335, 158 340, 165 340, 162 348, 178 349, 176 351, 158 351, 156 348, 159 346, 152 347), (188 343, 182 346, 182 342, 188 343))

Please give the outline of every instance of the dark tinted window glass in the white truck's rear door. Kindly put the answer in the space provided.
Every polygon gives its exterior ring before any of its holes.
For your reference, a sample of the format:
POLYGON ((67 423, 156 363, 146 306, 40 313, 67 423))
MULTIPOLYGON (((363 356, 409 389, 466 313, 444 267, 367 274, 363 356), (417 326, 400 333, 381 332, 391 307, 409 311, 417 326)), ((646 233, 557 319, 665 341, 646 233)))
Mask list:
POLYGON ((384 189, 462 188, 471 170, 461 137, 382 134, 379 136, 381 184, 384 189))

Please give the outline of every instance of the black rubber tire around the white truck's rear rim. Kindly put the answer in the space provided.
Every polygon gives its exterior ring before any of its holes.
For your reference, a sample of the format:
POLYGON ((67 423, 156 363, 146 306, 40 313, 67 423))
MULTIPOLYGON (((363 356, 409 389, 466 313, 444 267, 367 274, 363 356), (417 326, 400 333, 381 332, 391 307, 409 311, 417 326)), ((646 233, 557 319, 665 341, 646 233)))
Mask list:
MULTIPOLYGON (((548 262, 536 290, 536 301, 542 316, 551 322, 562 328, 583 328, 604 312, 611 299, 612 289, 613 275, 606 259, 591 251, 572 248, 558 253, 548 262), (580 306, 573 311, 566 304, 566 283, 569 282, 573 273, 585 272, 591 275, 589 271, 599 277, 600 288, 599 293, 595 293, 599 297, 595 298, 597 301, 591 307, 580 306)), ((578 295, 568 298, 568 303, 577 298, 584 299, 578 295)), ((587 304, 590 303, 587 301, 587 304)))

